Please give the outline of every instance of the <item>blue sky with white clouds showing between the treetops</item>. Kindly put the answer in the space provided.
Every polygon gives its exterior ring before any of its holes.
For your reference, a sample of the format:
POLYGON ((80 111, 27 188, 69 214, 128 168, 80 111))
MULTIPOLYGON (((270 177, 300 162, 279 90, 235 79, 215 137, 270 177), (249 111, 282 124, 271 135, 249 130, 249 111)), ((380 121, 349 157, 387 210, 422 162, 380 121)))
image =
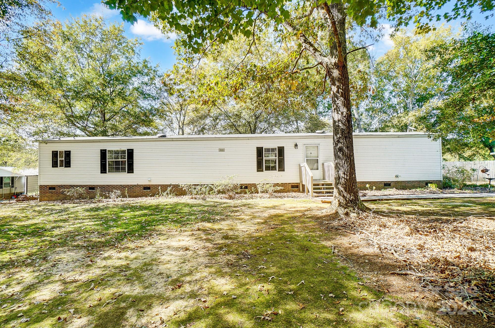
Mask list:
MULTIPOLYGON (((97 13, 109 21, 116 21, 122 23, 122 18, 120 17, 117 10, 109 10, 104 5, 98 1, 64 1, 59 0, 62 4, 61 7, 56 7, 51 5, 53 16, 61 21, 66 18, 80 16, 81 14, 97 13)), ((480 14, 476 9, 473 10, 473 20, 482 24, 483 26, 489 27, 493 31, 494 19, 485 20, 486 14, 480 14)), ((450 22, 452 26, 459 27, 461 20, 450 22)), ((124 23, 126 36, 129 38, 141 38, 143 44, 142 55, 145 58, 149 58, 154 64, 159 64, 162 70, 166 70, 172 67, 175 63, 174 51, 171 48, 173 46, 173 36, 170 39, 165 37, 158 31, 152 24, 150 24, 146 19, 140 19, 134 25, 129 23, 124 23)), ((390 40, 389 34, 391 32, 390 24, 384 22, 384 38, 377 44, 373 46, 372 52, 380 56, 384 54, 393 46, 393 42, 390 40)))

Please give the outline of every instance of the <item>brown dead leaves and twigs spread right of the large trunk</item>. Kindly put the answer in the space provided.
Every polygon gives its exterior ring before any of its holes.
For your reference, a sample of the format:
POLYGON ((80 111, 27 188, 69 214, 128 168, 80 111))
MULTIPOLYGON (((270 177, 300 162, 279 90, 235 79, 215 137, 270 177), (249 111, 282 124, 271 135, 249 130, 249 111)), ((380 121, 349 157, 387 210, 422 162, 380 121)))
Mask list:
POLYGON ((391 274, 421 281, 445 306, 495 317, 495 218, 418 217, 387 213, 334 215, 327 228, 346 231, 394 255, 404 266, 391 274))

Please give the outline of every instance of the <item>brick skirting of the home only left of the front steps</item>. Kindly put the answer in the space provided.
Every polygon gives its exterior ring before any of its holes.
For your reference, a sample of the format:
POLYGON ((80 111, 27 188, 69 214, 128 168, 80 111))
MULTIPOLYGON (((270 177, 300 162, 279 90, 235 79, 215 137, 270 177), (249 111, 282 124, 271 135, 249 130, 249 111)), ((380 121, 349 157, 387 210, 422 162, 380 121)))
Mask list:
MULTIPOLYGON (((256 188, 256 183, 241 183, 242 189, 252 190, 256 188)), ((283 189, 278 192, 299 192, 299 182, 294 183, 276 183, 277 186, 283 189)), ((178 184, 167 184, 167 185, 40 185, 40 201, 60 201, 68 200, 71 197, 64 194, 64 189, 70 189, 74 187, 82 187, 86 190, 86 195, 82 198, 95 198, 97 193, 101 197, 107 197, 108 193, 114 190, 120 190, 122 197, 148 197, 154 196, 159 191, 165 192, 169 187, 172 187, 172 192, 176 195, 186 195, 184 189, 182 189, 178 184), (94 187, 95 190, 89 190, 90 187, 94 187), (54 190, 49 190, 54 188, 54 190), (149 188, 149 190, 144 190, 149 188), (160 190, 158 189, 160 188, 160 190)))

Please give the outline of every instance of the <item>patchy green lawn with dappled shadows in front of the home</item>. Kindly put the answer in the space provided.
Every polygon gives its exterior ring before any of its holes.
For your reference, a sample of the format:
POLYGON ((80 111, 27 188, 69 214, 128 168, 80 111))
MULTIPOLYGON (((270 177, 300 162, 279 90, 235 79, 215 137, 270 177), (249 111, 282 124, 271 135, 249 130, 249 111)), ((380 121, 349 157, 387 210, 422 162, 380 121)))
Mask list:
POLYGON ((430 327, 379 302, 385 295, 323 245, 313 215, 326 206, 1 205, 0 326, 430 327))

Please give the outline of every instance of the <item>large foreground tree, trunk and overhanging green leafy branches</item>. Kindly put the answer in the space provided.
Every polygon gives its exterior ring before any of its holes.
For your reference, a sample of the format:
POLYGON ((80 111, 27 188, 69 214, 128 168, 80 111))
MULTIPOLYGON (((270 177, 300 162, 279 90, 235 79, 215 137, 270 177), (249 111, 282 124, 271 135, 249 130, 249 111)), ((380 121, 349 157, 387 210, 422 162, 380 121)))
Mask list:
MULTIPOLYGON (((352 114, 347 55, 347 29, 350 23, 358 27, 377 27, 378 16, 386 10, 387 17, 398 25, 414 21, 423 31, 428 21, 437 16, 447 1, 127 1, 107 0, 110 8, 118 8, 124 19, 137 21, 137 14, 149 16, 164 30, 183 33, 182 46, 197 53, 216 44, 232 41, 242 34, 247 40, 256 31, 272 29, 279 38, 296 42, 307 52, 314 67, 324 69, 332 99, 333 150, 335 160, 335 192, 332 207, 340 212, 365 209, 358 195, 352 141, 352 114)), ((457 2, 446 20, 470 17, 472 6, 482 11, 493 9, 492 1, 457 2)), ((254 39, 253 39, 254 40, 254 39)), ((251 41, 252 42, 252 41, 251 41)), ((296 57, 298 58, 298 57, 296 57)), ((297 61, 296 61, 297 64, 297 61)), ((311 67, 313 65, 307 66, 311 67)), ((299 66, 299 70, 306 67, 299 66)))

